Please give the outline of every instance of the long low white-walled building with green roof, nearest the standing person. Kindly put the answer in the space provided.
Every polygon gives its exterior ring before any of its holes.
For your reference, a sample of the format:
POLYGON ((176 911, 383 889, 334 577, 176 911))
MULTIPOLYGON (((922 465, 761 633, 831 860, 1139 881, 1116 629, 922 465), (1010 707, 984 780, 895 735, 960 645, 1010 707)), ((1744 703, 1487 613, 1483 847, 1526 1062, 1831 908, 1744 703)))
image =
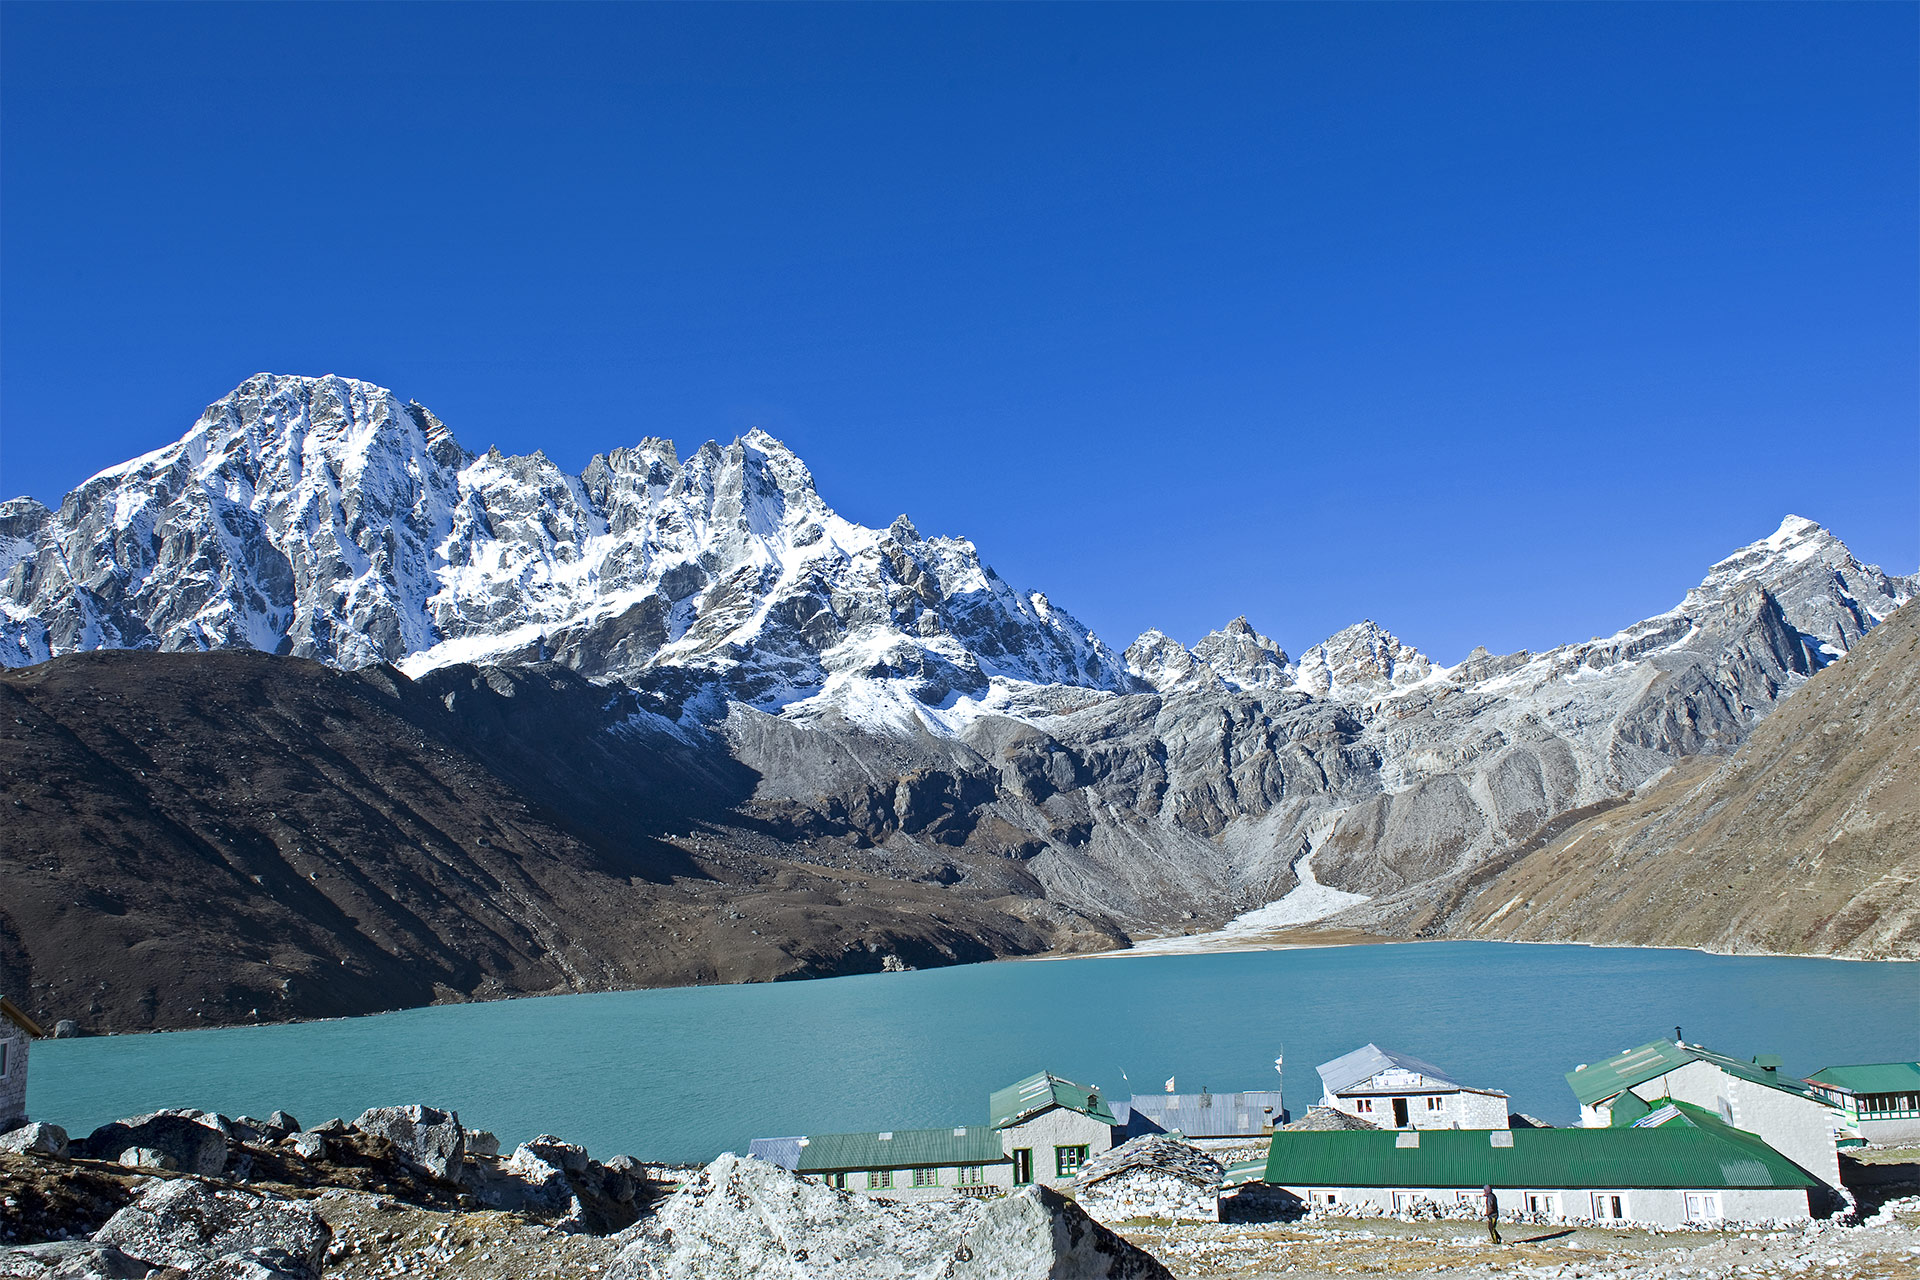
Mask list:
POLYGON ((1281 1130, 1261 1182, 1361 1217, 1478 1215, 1492 1186, 1507 1215, 1649 1226, 1807 1221, 1820 1186, 1759 1136, 1682 1105, 1622 1128, 1281 1130))

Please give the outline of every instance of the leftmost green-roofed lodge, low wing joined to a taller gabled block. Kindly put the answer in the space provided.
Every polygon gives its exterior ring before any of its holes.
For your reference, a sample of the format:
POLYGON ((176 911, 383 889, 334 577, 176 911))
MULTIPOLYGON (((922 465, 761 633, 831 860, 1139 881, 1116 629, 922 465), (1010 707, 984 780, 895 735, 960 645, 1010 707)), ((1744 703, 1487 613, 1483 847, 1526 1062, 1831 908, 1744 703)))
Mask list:
POLYGON ((924 1199, 1068 1186, 1116 1140, 1100 1090, 1048 1071, 995 1090, 987 1111, 987 1125, 755 1138, 747 1153, 829 1186, 924 1199))

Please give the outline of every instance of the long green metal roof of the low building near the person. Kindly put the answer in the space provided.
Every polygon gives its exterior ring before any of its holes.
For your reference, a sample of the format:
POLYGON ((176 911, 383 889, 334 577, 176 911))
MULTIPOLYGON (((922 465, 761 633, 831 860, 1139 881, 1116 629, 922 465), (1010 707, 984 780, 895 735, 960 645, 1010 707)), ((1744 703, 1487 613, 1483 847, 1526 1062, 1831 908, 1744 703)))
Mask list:
POLYGON ((1277 1132, 1265 1180, 1279 1186, 1805 1188, 1814 1180, 1759 1138, 1724 1125, 1659 1128, 1428 1128, 1277 1132), (1511 1138, 1513 1146, 1494 1146, 1511 1138))

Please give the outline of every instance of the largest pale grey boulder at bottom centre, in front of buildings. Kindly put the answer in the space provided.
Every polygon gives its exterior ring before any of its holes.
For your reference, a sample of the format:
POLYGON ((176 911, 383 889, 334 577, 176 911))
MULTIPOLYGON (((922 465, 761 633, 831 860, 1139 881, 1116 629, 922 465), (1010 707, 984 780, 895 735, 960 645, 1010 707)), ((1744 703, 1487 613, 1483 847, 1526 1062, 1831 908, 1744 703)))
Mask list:
POLYGON ((622 1232, 607 1280, 1164 1280, 1148 1253, 1044 1188, 891 1201, 722 1155, 622 1232))

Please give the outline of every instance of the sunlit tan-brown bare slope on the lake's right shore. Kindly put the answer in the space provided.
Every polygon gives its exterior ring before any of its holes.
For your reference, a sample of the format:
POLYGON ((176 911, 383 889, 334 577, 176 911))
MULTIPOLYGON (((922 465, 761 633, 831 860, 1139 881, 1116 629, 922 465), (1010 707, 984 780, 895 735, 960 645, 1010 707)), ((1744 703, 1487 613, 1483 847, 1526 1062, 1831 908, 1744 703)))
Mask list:
POLYGON ((1690 760, 1444 921, 1455 936, 1920 958, 1920 608, 1730 760, 1690 760))

